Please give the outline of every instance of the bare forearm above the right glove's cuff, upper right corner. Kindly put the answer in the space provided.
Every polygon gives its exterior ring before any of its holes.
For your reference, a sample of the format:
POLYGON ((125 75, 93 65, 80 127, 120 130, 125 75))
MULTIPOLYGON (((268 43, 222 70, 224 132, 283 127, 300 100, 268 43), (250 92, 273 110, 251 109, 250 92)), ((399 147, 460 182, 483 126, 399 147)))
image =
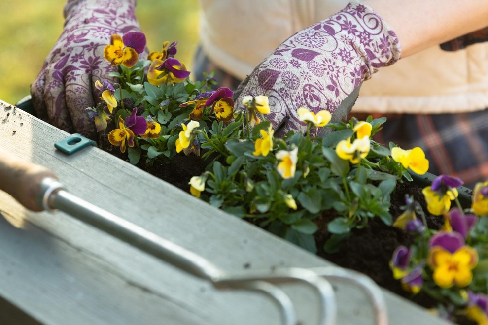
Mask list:
POLYGON ((395 31, 402 57, 488 26, 487 0, 365 0, 395 31))

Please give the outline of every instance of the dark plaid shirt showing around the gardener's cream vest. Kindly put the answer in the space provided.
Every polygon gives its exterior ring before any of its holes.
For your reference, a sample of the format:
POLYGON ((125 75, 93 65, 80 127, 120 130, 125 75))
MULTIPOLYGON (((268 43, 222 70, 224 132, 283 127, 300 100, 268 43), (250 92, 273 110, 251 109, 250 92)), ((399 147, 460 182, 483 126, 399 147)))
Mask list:
MULTIPOLYGON (((454 51, 485 40, 488 28, 444 43, 441 48, 454 51)), ((240 80, 213 65, 199 48, 194 75, 212 70, 220 87, 237 89, 240 80)), ((352 112, 349 117, 365 120, 368 115, 352 112)), ((387 114, 386 118, 383 129, 374 137, 378 143, 388 146, 393 142, 403 149, 422 148, 430 162, 430 173, 457 176, 467 188, 488 180, 488 109, 460 114, 387 114)))

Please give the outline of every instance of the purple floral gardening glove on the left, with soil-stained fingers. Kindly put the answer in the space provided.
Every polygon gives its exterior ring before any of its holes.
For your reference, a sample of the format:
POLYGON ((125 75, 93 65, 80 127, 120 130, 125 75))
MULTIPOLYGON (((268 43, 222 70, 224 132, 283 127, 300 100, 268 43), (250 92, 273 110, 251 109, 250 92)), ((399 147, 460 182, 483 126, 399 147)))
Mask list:
MULTIPOLYGON (((104 58, 110 36, 140 31, 136 0, 69 0, 63 32, 31 86, 39 118, 56 127, 95 136, 95 124, 85 108, 100 101, 94 86, 116 71, 104 58)), ((139 58, 145 59, 144 54, 139 58)))

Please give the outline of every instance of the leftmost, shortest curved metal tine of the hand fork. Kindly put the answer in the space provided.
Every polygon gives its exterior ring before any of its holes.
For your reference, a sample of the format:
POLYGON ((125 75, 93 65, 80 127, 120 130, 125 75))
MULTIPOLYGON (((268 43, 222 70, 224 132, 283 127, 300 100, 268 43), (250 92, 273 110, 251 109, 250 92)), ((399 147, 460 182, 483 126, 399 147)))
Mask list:
POLYGON ((278 286, 275 286, 266 281, 256 280, 236 283, 235 286, 233 286, 232 288, 253 290, 265 293, 269 297, 273 298, 275 303, 278 305, 281 314, 281 323, 283 325, 297 324, 297 316, 295 313, 295 309, 293 308, 293 302, 283 290, 279 289, 278 286))

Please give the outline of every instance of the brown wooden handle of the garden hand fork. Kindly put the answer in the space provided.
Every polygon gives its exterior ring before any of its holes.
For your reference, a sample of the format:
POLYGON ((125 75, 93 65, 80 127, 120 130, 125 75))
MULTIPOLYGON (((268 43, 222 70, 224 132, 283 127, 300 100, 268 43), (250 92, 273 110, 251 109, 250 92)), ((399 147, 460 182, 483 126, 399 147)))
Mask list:
POLYGON ((0 190, 12 195, 29 210, 44 210, 37 204, 36 196, 41 190, 42 180, 48 177, 58 179, 52 170, 21 161, 0 149, 0 190))

